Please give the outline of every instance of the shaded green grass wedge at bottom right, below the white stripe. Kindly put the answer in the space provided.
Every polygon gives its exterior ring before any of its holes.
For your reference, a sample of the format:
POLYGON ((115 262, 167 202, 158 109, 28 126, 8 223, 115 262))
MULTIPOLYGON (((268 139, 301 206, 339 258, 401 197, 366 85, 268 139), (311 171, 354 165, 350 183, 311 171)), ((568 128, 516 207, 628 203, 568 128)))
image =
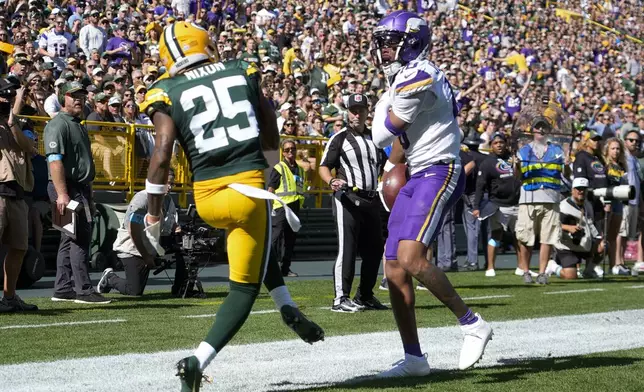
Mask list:
MULTIPOLYGON (((538 359, 469 371, 435 371, 427 377, 350 381, 317 392, 515 392, 583 391, 641 392, 644 349, 538 359)), ((301 390, 300 390, 301 391, 301 390)))

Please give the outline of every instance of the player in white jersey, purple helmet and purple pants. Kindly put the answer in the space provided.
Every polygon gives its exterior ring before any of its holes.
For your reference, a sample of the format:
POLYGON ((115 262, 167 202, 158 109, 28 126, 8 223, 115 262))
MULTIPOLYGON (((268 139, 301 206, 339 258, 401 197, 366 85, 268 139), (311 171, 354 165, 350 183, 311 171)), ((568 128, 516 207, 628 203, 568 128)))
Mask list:
POLYGON ((456 100, 445 75, 427 60, 429 49, 429 26, 415 13, 393 12, 380 21, 373 34, 372 55, 389 82, 389 91, 375 108, 373 140, 381 148, 395 141, 386 171, 404 152, 411 172, 392 207, 385 247, 385 274, 405 359, 380 377, 430 372, 418 341, 412 277, 461 324, 465 338, 460 369, 478 362, 492 337, 490 325, 465 305, 443 271, 425 258, 440 231, 444 212, 456 203, 465 185, 456 100))

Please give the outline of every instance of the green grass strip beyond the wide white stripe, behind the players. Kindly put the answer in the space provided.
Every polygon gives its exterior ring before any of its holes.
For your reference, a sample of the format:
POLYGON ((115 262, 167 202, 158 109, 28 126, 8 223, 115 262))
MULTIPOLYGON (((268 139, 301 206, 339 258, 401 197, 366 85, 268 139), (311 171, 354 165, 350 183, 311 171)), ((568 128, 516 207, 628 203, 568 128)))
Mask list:
MULTIPOLYGON (((468 304, 487 320, 501 321, 566 314, 584 314, 644 308, 644 284, 638 278, 610 278, 606 281, 561 282, 553 278, 548 286, 526 286, 521 277, 502 271, 496 278, 482 272, 449 274, 463 297, 512 295, 512 298, 469 300, 468 304), (602 288, 603 292, 543 295, 543 292, 602 288)), ((357 282, 356 282, 357 286, 357 282)), ((290 282, 296 302, 326 330, 327 336, 395 330, 391 311, 338 314, 329 310, 333 298, 331 281, 290 282)), ((387 293, 376 290, 383 302, 387 293)), ((417 292, 419 327, 454 325, 454 316, 427 292, 417 292)), ((185 319, 180 316, 215 313, 226 295, 225 287, 208 290, 205 300, 181 300, 166 293, 151 292, 141 298, 109 295, 109 305, 53 303, 48 298, 30 299, 41 310, 33 314, 0 317, 0 327, 70 321, 126 319, 117 324, 93 324, 49 328, 0 330, 0 363, 54 360, 125 352, 155 352, 195 347, 212 325, 212 318, 185 319)), ((274 309, 264 291, 254 310, 274 309)), ((251 315, 232 344, 297 338, 277 313, 251 315)))

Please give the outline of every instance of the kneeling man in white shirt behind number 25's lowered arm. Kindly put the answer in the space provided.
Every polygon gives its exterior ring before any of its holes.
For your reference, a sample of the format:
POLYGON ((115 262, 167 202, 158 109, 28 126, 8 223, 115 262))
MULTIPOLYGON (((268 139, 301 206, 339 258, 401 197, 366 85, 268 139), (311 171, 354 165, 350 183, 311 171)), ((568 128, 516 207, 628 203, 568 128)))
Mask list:
MULTIPOLYGON (((174 185, 174 172, 170 169, 168 175, 167 192, 163 199, 163 217, 161 225, 161 242, 164 238, 170 238, 177 231, 177 208, 174 205, 170 190, 174 185)), ((114 252, 123 262, 125 269, 125 279, 114 273, 112 268, 103 271, 101 280, 96 286, 99 293, 109 293, 115 289, 123 295, 143 295, 145 286, 148 282, 150 270, 156 268, 155 257, 156 250, 147 246, 148 241, 144 241, 145 233, 143 229, 143 218, 148 211, 148 194, 145 190, 138 192, 130 201, 125 212, 123 224, 119 228, 118 236, 114 242, 114 252), (139 252, 143 250, 142 252, 139 252)), ((181 284, 185 280, 185 264, 183 257, 176 254, 177 265, 175 271, 172 294, 178 295, 181 284)))

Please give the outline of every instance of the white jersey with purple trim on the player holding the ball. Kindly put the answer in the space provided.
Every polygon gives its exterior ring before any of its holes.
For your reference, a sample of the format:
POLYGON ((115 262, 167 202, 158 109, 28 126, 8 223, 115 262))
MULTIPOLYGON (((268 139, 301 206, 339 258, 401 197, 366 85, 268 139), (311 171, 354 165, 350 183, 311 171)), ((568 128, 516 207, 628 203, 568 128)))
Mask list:
POLYGON ((403 67, 376 104, 374 141, 381 148, 393 139, 393 134, 381 126, 389 107, 409 124, 399 139, 412 174, 441 161, 460 160, 454 93, 443 72, 431 62, 417 60, 403 67))

